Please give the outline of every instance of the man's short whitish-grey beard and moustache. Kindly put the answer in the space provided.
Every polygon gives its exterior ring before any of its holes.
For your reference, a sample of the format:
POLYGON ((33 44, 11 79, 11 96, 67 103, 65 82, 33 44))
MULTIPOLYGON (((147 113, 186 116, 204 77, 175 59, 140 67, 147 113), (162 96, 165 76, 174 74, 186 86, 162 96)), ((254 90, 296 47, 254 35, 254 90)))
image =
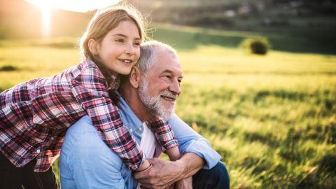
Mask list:
POLYGON ((168 120, 170 116, 175 111, 175 106, 167 106, 165 107, 162 105, 161 101, 161 95, 165 95, 168 97, 176 97, 175 94, 172 94, 172 92, 169 92, 168 90, 164 90, 158 94, 156 97, 151 97, 148 94, 148 83, 147 80, 144 79, 139 85, 139 97, 141 99, 141 102, 145 104, 145 106, 148 108, 149 112, 153 114, 153 116, 159 116, 161 118, 164 118, 165 120, 168 120))

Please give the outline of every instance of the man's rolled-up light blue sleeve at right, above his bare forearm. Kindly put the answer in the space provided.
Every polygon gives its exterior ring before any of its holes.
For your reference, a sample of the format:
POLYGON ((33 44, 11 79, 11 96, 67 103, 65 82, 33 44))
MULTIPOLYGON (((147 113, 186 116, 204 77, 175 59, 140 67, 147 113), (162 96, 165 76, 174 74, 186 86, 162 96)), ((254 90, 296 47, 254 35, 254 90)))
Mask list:
POLYGON ((221 155, 214 151, 209 141, 197 134, 181 118, 174 115, 169 118, 168 123, 172 126, 175 137, 179 141, 181 153, 195 153, 204 158, 206 165, 203 169, 211 169, 221 160, 221 155))

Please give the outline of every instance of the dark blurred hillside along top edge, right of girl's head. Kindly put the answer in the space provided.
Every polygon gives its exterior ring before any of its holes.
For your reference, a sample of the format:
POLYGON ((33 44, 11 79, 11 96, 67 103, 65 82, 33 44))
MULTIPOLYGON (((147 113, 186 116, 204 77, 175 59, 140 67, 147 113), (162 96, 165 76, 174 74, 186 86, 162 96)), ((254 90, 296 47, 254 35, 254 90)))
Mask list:
MULTIPOLYGON (((296 27, 291 19, 336 16, 335 0, 134 0, 134 3, 150 14, 154 22, 218 29, 296 27)), ((315 21, 309 25, 330 23, 315 21)))

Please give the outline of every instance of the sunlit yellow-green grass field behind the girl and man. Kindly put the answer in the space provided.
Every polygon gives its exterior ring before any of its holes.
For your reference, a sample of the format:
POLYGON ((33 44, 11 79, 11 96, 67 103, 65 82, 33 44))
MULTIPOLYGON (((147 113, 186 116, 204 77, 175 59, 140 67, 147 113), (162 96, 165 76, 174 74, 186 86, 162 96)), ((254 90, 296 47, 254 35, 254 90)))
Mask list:
MULTIPOLYGON (((176 113, 221 153, 232 188, 335 188, 335 55, 257 56, 181 40, 176 113)), ((0 91, 77 64, 73 42, 0 41, 0 91)))

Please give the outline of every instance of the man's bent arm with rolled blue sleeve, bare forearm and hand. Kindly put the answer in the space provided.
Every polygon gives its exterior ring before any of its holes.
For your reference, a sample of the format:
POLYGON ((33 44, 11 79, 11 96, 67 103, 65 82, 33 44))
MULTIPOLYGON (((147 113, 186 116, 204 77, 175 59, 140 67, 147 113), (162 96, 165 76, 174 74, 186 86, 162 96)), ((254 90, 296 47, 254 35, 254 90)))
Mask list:
POLYGON ((147 172, 134 174, 144 186, 167 187, 176 181, 193 176, 200 169, 211 169, 219 160, 219 155, 211 148, 209 141, 197 134, 192 128, 174 115, 168 120, 172 125, 179 148, 183 156, 176 162, 167 162, 158 158, 150 159, 153 167, 147 172))

